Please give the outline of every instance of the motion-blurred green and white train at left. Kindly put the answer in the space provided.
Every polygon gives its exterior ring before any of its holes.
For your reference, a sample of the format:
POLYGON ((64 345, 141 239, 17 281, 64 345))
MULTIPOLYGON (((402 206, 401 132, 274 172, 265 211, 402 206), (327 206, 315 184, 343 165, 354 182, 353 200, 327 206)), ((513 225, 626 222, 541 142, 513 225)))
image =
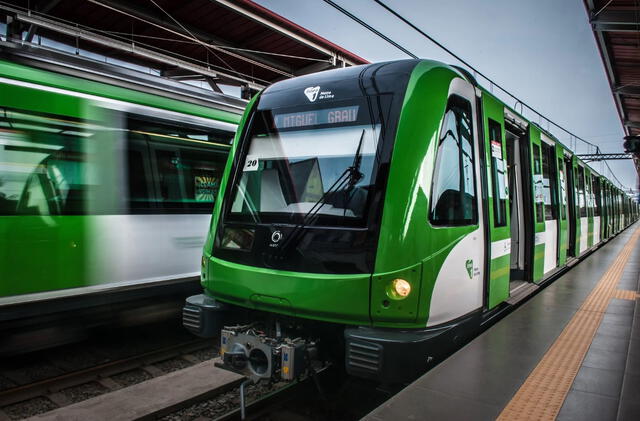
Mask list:
MULTIPOLYGON (((32 317, 113 310, 154 287, 197 287, 245 106, 165 78, 3 45, 0 338, 32 317)), ((69 324, 91 323, 80 314, 69 324)), ((0 353, 15 346, 0 343, 0 353)))

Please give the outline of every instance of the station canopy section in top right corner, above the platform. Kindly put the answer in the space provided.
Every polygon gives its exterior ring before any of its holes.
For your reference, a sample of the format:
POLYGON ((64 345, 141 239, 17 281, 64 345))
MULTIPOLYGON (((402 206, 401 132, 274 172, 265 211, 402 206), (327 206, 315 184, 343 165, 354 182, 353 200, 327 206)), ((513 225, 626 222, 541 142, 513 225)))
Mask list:
MULTIPOLYGON (((585 0, 618 115, 627 136, 640 136, 640 2, 585 0)), ((640 154, 636 155, 640 174, 640 154)))

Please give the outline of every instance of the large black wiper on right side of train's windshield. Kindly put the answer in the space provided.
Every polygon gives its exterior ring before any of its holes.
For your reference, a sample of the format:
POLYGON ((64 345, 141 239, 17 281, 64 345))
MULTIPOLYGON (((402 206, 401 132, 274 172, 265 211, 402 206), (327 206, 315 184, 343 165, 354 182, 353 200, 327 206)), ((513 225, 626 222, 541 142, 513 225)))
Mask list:
MULTIPOLYGON (((364 174, 360 172, 360 165, 362 163, 362 143, 364 140, 365 132, 366 130, 362 129, 362 134, 360 134, 360 141, 358 142, 358 148, 356 149, 356 153, 353 156, 353 163, 342 172, 340 177, 338 177, 338 179, 331 185, 329 190, 324 192, 322 197, 320 197, 320 199, 318 199, 318 201, 313 204, 311 209, 309 209, 309 211, 302 217, 302 222, 293 227, 291 233, 287 236, 286 240, 280 247, 281 255, 285 254, 292 245, 297 244, 300 241, 304 232, 304 228, 309 227, 313 224, 313 222, 315 222, 320 209, 322 209, 322 207, 327 203, 327 199, 331 197, 331 195, 344 189, 345 187, 347 188, 347 194, 349 194, 351 190, 353 190, 355 185, 362 179, 362 177, 364 177, 364 174)), ((351 199, 349 198, 349 200, 351 199)), ((347 206, 347 203, 345 203, 344 205, 345 208, 347 206)))

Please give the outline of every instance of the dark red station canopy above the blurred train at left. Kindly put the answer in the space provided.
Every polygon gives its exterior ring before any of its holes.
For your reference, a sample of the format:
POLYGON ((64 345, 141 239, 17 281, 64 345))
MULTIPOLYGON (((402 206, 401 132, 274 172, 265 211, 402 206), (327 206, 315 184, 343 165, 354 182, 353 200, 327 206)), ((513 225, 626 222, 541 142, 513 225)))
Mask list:
POLYGON ((218 92, 240 86, 244 97, 281 79, 367 63, 249 0, 18 0, 0 1, 0 12, 9 41, 42 48, 44 38, 218 92))

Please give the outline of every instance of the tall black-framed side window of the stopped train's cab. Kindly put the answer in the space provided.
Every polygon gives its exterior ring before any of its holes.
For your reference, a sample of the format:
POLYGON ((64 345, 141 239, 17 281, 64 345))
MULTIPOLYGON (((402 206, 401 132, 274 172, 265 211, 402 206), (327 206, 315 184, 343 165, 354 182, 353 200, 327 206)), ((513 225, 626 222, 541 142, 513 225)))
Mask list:
POLYGON ((432 225, 474 225, 478 220, 471 103, 449 98, 431 187, 432 225))

